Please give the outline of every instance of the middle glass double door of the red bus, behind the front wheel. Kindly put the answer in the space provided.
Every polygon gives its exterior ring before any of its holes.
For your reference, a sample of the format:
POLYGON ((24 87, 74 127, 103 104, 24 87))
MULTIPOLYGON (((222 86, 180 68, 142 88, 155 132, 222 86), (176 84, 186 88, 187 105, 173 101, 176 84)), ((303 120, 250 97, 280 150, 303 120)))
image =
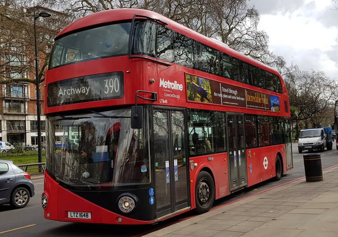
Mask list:
POLYGON ((247 186, 243 114, 227 113, 230 192, 247 186))

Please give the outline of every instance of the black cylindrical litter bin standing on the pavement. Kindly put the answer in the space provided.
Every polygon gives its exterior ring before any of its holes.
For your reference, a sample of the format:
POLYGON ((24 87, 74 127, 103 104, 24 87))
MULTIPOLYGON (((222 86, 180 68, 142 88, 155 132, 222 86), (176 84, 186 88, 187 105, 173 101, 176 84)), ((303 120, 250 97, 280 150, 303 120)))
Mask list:
POLYGON ((320 154, 303 155, 305 178, 307 182, 323 181, 320 154))

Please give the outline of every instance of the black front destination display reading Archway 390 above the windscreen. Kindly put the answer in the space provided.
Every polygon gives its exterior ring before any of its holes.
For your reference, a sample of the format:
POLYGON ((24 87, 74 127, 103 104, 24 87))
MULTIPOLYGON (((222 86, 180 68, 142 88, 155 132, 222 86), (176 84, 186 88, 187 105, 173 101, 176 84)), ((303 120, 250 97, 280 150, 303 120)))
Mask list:
POLYGON ((76 77, 48 85, 47 106, 61 106, 123 97, 123 73, 76 77))

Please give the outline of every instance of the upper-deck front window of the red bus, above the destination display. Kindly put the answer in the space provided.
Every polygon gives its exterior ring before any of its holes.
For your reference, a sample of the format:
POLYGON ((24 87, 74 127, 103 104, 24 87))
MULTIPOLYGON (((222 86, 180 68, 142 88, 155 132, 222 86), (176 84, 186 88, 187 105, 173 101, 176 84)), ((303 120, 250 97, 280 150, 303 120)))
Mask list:
POLYGON ((104 25, 55 41, 49 69, 74 62, 127 55, 130 22, 104 25))

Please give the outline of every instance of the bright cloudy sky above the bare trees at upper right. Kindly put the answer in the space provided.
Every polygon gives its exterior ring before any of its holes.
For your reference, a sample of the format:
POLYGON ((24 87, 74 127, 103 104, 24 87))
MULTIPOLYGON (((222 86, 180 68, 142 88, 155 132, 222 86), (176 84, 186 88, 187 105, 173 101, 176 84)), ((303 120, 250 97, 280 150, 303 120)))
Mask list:
POLYGON ((287 65, 323 71, 338 80, 338 3, 333 0, 248 0, 261 15, 258 28, 287 65))

